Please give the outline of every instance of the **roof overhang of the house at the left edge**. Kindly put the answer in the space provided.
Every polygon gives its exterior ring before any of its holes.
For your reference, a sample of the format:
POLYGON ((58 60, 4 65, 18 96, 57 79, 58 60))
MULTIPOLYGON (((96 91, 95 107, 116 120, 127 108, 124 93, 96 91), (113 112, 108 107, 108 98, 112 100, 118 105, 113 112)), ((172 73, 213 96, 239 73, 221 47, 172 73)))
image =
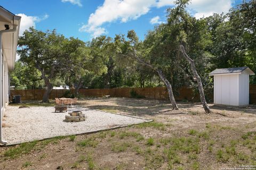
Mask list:
POLYGON ((9 25, 10 29, 13 29, 17 25, 17 31, 3 33, 2 36, 2 52, 9 70, 14 69, 16 60, 20 19, 20 16, 14 15, 0 6, 0 30, 5 30, 5 24, 9 25))

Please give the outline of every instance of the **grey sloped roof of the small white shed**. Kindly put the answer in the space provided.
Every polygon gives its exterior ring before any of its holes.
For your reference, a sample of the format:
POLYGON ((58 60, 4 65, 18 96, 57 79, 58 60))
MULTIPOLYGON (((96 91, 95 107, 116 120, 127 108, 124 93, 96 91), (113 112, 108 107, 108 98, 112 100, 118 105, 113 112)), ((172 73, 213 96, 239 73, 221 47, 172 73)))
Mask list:
POLYGON ((215 74, 231 74, 231 73, 241 73, 243 71, 247 70, 250 75, 254 75, 254 72, 249 69, 249 67, 234 67, 234 68, 225 68, 225 69, 216 69, 209 73, 209 75, 215 75, 215 74))

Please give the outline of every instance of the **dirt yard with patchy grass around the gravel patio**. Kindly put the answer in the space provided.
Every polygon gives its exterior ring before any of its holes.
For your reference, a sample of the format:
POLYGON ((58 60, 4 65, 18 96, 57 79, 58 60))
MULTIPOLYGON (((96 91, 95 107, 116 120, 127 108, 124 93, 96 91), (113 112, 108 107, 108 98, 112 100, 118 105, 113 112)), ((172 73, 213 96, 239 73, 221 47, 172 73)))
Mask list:
POLYGON ((0 148, 0 169, 256 169, 256 106, 90 98, 79 105, 154 122, 0 148))

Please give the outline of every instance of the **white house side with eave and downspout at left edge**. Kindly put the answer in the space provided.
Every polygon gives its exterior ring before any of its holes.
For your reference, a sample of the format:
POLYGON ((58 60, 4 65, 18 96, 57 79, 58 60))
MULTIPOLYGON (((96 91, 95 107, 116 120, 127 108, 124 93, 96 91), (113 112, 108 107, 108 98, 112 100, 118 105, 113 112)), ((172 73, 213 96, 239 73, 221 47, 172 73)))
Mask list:
POLYGON ((14 69, 20 19, 20 16, 14 15, 0 6, 0 143, 3 144, 5 141, 2 140, 2 118, 5 107, 9 104, 9 72, 14 69))

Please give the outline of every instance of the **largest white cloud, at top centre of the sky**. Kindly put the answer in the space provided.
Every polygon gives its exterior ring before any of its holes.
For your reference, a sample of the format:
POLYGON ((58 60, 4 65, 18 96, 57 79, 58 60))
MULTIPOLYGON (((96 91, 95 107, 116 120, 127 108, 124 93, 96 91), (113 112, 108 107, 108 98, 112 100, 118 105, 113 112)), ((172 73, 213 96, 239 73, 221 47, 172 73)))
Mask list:
POLYGON ((93 37, 106 33, 101 25, 107 22, 136 20, 149 12, 155 0, 105 0, 89 17, 88 23, 79 31, 89 32, 93 37))

